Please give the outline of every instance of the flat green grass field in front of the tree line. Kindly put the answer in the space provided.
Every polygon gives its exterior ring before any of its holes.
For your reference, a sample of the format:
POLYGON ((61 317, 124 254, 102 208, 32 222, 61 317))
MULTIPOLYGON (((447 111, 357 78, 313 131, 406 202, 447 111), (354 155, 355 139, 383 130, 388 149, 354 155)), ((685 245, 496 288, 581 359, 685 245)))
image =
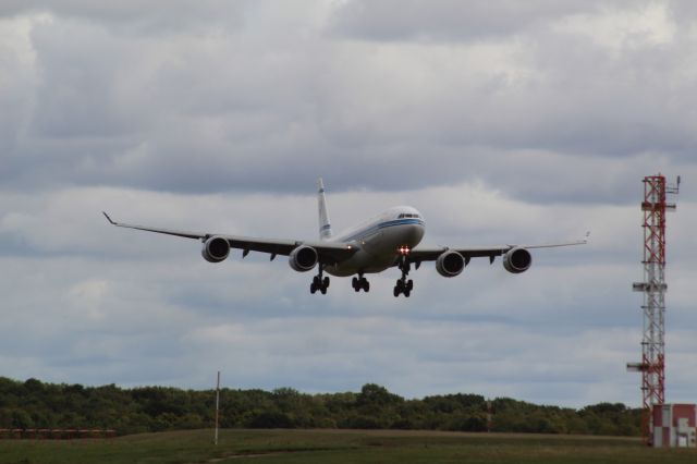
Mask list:
POLYGON ((392 430, 211 430, 111 440, 1 440, 0 463, 697 463, 637 439, 392 430))

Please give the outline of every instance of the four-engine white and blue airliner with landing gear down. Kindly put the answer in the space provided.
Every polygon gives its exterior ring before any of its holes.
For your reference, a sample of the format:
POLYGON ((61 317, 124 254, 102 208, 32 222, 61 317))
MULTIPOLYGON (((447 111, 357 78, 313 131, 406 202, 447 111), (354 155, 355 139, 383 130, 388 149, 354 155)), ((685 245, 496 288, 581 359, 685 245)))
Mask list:
POLYGON ((107 220, 120 228, 136 229, 185 239, 200 240, 201 256, 209 262, 221 262, 228 258, 231 248, 242 249, 242 257, 249 252, 277 256, 288 256, 291 268, 298 272, 308 272, 317 268, 309 291, 326 294, 330 279, 351 277, 356 293, 370 291, 370 283, 365 278, 368 273, 378 273, 396 267, 402 277, 398 279, 393 294, 395 297, 409 297, 414 290, 414 281, 407 279, 412 266, 418 269, 424 261, 435 261, 439 274, 448 278, 458 276, 472 258, 488 257, 493 264, 497 256, 503 256, 503 267, 512 273, 525 272, 533 264, 529 249, 559 246, 583 245, 588 242, 589 233, 583 240, 543 245, 494 245, 478 247, 419 246, 426 232, 426 222, 421 213, 411 206, 389 208, 372 219, 350 229, 341 234, 332 233, 327 212, 325 184, 318 180, 317 204, 319 211, 319 240, 273 240, 241 235, 224 235, 207 232, 186 232, 170 229, 158 229, 117 222, 102 211, 107 220))

